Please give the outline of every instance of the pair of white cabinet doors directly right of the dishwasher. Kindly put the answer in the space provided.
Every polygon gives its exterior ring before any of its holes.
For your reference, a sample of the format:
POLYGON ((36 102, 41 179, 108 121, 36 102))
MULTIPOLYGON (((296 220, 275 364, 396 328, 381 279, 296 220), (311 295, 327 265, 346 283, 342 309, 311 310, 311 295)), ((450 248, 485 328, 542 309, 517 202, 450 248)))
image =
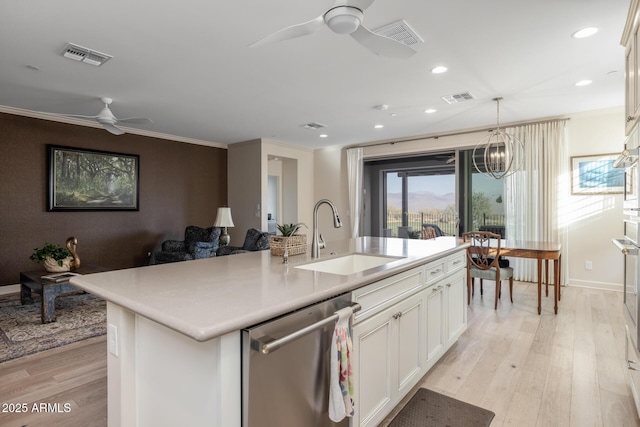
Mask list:
POLYGON ((353 425, 376 426, 423 375, 421 293, 353 326, 353 425))

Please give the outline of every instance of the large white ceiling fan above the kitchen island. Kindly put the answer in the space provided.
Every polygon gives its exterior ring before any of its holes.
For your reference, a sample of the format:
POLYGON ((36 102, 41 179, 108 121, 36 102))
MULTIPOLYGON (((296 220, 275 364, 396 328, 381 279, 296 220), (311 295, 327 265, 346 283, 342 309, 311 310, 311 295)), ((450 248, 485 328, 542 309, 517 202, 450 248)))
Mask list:
POLYGON ((376 34, 362 25, 364 11, 373 2, 374 0, 336 0, 336 3, 329 10, 311 21, 283 28, 250 44, 249 47, 306 36, 326 25, 336 34, 351 35, 358 43, 377 55, 409 58, 416 53, 414 49, 404 43, 376 34))

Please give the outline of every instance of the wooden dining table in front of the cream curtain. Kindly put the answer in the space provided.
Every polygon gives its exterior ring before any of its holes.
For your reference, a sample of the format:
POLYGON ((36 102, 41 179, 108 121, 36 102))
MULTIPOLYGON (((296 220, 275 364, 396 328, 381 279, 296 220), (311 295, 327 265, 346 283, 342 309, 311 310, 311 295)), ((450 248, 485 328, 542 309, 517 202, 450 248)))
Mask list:
POLYGON ((538 260, 538 314, 542 312, 542 261, 545 264, 546 296, 549 296, 549 261, 553 261, 553 310, 558 314, 558 301, 562 297, 560 294, 562 245, 555 242, 503 239, 500 241, 500 256, 538 260))

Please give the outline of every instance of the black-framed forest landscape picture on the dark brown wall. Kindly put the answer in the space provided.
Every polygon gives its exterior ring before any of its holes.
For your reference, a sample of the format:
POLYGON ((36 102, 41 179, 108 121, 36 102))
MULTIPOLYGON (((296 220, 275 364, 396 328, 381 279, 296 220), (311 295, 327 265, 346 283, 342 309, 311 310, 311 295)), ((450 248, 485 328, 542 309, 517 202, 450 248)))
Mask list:
POLYGON ((137 211, 139 156, 48 145, 49 211, 137 211))

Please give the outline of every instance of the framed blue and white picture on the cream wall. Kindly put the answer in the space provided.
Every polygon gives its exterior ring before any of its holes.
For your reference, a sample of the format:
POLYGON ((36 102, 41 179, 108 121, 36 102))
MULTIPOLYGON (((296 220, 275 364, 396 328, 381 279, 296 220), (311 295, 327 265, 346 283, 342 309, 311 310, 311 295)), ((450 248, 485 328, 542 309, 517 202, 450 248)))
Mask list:
POLYGON ((624 169, 613 167, 618 154, 571 158, 571 194, 618 194, 624 190, 624 169))

